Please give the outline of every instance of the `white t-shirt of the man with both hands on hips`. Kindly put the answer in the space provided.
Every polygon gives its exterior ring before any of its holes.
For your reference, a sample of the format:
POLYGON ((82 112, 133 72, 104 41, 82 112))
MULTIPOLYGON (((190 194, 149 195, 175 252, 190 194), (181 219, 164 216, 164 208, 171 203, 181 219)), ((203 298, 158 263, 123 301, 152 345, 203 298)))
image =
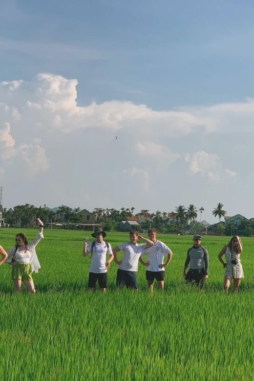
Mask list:
POLYGON ((156 241, 155 244, 149 247, 143 253, 146 255, 147 260, 150 262, 150 266, 147 267, 148 271, 164 271, 164 267, 162 269, 159 268, 159 265, 163 264, 164 255, 168 255, 171 253, 171 250, 165 243, 161 241, 156 241))

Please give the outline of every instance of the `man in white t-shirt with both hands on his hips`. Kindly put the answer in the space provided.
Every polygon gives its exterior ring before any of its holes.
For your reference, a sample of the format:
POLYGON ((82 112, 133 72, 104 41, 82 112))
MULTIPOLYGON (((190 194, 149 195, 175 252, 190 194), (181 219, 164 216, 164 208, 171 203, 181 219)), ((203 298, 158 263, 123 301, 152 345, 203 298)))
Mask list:
MULTIPOLYGON (((153 246, 145 250, 143 254, 146 255, 149 263, 146 271, 146 278, 148 281, 148 289, 152 294, 154 279, 157 280, 158 289, 164 289, 165 267, 169 265, 173 253, 171 252, 169 247, 165 245, 165 243, 157 240, 157 232, 155 229, 148 230, 148 237, 153 242, 153 246), (164 255, 168 255, 167 261, 165 263, 163 263, 164 255)), ((143 262, 141 258, 139 259, 139 261, 141 263, 143 262)))

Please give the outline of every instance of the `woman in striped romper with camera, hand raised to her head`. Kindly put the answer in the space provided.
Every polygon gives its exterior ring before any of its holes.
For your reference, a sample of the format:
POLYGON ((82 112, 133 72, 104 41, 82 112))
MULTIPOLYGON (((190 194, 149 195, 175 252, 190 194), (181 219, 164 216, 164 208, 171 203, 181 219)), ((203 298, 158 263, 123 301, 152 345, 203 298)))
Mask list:
POLYGON ((240 254, 243 251, 242 241, 238 235, 234 235, 228 245, 224 246, 218 254, 219 261, 226 268, 224 276, 224 290, 228 291, 233 278, 233 290, 238 290, 241 279, 244 278, 240 254), (225 254, 226 262, 222 259, 225 254))

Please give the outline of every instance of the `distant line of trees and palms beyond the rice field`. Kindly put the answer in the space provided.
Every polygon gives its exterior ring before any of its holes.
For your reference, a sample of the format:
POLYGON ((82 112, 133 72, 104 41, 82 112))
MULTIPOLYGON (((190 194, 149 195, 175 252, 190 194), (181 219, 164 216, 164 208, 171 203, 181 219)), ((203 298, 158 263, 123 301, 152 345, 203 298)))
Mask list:
MULTIPOLYGON (((106 231, 119 230, 120 222, 134 216, 134 210, 134 207, 121 208, 120 210, 114 208, 99 210, 96 212, 96 223, 99 223, 102 229, 106 231)), ((150 213, 149 219, 139 226, 135 226, 135 229, 142 231, 143 229, 153 227, 158 232, 165 233, 204 233, 206 226, 201 223, 202 212, 204 210, 203 207, 198 210, 193 204, 187 208, 184 205, 179 205, 175 207, 174 212, 170 213, 170 218, 168 218, 167 212, 156 211, 150 213), (200 212, 199 218, 198 212, 200 212)), ((72 209, 66 205, 59 206, 57 212, 53 212, 47 209, 46 205, 37 208, 34 205, 25 204, 17 205, 10 209, 4 208, 2 217, 4 222, 9 226, 25 228, 37 226, 37 217, 40 217, 47 224, 56 221, 56 216, 61 215, 64 216, 66 224, 78 224, 82 222, 82 217, 78 215, 78 212, 80 212, 80 208, 72 209)), ((221 218, 225 217, 226 214, 227 212, 223 210, 222 203, 218 203, 212 211, 212 215, 219 217, 219 222, 221 222, 221 218)), ((226 235, 254 236, 254 221, 244 218, 237 226, 233 222, 229 222, 226 226, 223 223, 219 223, 214 232, 226 235)))

